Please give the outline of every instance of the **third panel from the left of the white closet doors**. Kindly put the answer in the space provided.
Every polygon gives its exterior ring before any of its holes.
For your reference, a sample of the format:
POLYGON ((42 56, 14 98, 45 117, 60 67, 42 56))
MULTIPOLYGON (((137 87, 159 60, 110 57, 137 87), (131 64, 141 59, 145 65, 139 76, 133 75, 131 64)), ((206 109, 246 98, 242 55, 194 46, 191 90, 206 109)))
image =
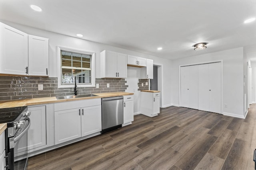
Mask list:
POLYGON ((198 65, 198 109, 209 111, 209 64, 198 65))

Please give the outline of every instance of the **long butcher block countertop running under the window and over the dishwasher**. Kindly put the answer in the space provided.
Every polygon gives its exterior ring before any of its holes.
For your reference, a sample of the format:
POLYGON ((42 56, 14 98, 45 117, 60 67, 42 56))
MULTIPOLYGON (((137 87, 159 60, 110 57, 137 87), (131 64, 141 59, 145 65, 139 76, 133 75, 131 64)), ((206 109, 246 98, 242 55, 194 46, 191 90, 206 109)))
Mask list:
POLYGON ((14 100, 14 101, 8 101, 8 102, 0 102, 0 109, 8 108, 8 107, 20 107, 20 106, 31 106, 31 105, 38 105, 38 104, 68 102, 68 101, 74 101, 74 100, 86 100, 86 99, 94 99, 94 98, 127 96, 127 95, 133 95, 133 93, 112 92, 112 93, 96 93, 94 95, 97 95, 97 96, 85 97, 85 98, 61 99, 61 100, 57 100, 56 97, 49 97, 49 98, 34 98, 34 99, 26 99, 26 100, 14 100))

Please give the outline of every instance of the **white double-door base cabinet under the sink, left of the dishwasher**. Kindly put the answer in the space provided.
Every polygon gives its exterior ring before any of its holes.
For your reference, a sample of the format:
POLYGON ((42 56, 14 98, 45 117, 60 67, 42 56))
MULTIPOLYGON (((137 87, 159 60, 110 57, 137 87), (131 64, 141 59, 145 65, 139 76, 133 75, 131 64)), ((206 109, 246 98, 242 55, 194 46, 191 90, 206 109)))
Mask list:
POLYGON ((101 99, 54 104, 55 145, 102 130, 101 99))

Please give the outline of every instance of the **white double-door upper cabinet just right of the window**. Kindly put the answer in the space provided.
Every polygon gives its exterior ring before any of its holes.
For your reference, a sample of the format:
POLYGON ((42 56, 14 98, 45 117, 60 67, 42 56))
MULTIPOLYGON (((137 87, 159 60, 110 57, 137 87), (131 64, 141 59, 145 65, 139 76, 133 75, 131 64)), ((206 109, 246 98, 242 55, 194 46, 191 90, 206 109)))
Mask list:
POLYGON ((104 50, 100 53, 100 67, 102 78, 126 78, 127 55, 104 50))

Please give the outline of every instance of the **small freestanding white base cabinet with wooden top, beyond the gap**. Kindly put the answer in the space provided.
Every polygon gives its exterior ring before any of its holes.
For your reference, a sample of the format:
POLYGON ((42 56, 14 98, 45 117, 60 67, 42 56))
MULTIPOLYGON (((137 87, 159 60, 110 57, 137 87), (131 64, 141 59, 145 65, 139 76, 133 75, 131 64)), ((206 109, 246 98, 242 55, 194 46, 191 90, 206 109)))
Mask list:
POLYGON ((140 92, 140 111, 149 117, 157 116, 160 113, 160 93, 140 92))

